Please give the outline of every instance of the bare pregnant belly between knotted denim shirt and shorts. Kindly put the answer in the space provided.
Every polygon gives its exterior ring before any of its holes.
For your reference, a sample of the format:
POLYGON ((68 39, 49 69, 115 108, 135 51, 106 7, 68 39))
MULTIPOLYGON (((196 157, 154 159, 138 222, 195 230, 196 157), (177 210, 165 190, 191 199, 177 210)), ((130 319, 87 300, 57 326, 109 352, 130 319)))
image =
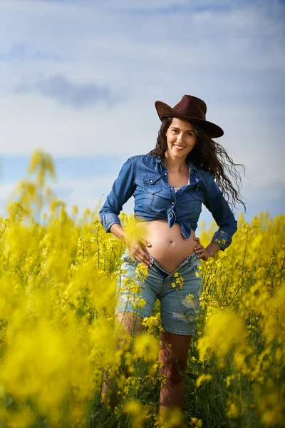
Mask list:
POLYGON ((166 220, 152 220, 137 223, 138 235, 152 246, 145 248, 157 263, 167 272, 173 272, 194 252, 196 241, 192 230, 190 238, 185 239, 180 225, 169 228, 166 220))

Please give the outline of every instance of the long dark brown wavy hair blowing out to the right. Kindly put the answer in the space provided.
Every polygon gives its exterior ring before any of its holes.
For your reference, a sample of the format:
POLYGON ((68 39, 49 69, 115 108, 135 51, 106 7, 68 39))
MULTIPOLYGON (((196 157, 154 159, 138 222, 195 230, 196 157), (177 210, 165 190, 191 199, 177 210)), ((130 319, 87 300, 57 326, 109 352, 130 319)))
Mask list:
MULTIPOLYGON (((167 138, 165 133, 172 123, 172 117, 167 117, 162 120, 160 131, 158 131, 157 142, 155 148, 150 151, 150 155, 163 156, 167 151, 167 138)), ((197 144, 188 153, 186 161, 191 161, 198 168, 208 171, 216 180, 217 185, 222 190, 227 202, 236 206, 236 203, 241 203, 244 206, 244 212, 247 211, 242 200, 240 189, 242 188, 242 177, 239 173, 239 168, 245 170, 241 163, 234 163, 227 151, 216 141, 210 138, 204 129, 196 123, 192 123, 195 127, 197 135, 197 144), (232 184, 231 179, 234 181, 232 184)))

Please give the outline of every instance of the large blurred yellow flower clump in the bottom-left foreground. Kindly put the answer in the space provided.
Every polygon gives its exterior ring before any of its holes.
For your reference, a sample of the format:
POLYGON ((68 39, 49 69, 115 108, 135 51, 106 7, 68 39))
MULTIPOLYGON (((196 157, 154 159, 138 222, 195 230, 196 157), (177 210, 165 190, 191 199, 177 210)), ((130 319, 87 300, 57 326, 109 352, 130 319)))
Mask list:
POLYGON ((0 384, 19 402, 33 400, 39 411, 57 424, 62 402, 73 388, 74 404, 77 399, 86 400, 93 391, 88 347, 82 346, 76 330, 52 328, 43 319, 24 322, 26 325, 19 325, 15 320, 7 328, 0 384))

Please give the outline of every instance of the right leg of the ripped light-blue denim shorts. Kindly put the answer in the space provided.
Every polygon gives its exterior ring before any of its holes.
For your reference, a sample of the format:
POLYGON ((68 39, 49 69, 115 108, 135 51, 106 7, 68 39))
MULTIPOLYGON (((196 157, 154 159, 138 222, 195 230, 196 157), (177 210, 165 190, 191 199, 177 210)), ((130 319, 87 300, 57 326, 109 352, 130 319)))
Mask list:
POLYGON ((176 285, 169 278, 161 299, 162 327, 166 332, 193 335, 199 315, 199 295, 202 292, 202 276, 196 275, 195 265, 185 267, 180 273, 183 285, 176 285))

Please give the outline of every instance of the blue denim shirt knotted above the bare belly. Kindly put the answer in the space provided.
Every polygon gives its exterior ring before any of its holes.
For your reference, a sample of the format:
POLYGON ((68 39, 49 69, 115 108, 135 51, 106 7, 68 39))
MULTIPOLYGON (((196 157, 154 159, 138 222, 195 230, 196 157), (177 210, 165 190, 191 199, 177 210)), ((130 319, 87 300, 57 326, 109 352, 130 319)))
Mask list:
POLYGON ((120 224, 118 215, 133 195, 135 221, 167 220, 170 228, 177 223, 187 239, 191 230, 197 228, 204 203, 219 226, 212 242, 222 250, 227 248, 237 231, 237 220, 212 175, 191 162, 189 165, 190 184, 183 185, 175 193, 175 188, 168 184, 168 171, 160 157, 139 155, 129 158, 99 213, 105 231, 110 232, 113 224, 120 224))

